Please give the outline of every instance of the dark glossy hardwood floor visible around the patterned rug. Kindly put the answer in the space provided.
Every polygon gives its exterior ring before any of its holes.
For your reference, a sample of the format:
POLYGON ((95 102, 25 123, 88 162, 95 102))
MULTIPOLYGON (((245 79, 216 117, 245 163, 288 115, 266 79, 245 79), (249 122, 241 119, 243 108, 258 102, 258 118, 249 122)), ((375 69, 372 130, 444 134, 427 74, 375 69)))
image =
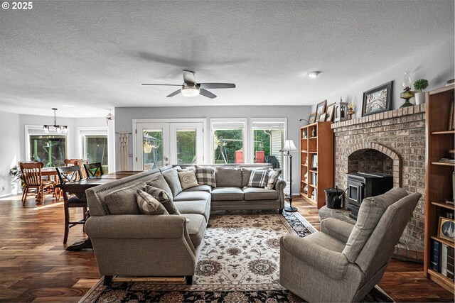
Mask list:
MULTIPOLYGON (((318 211, 299 197, 299 212, 319 228, 318 211)), ((71 209, 82 216, 82 209, 71 209)), ((63 245, 62 202, 45 197, 0 199, 0 302, 77 302, 100 279, 92 250, 68 252, 63 245)), ((85 239, 70 229, 68 245, 85 239)), ((422 274, 421 264, 392 260, 380 282, 397 302, 454 302, 454 295, 422 274)))

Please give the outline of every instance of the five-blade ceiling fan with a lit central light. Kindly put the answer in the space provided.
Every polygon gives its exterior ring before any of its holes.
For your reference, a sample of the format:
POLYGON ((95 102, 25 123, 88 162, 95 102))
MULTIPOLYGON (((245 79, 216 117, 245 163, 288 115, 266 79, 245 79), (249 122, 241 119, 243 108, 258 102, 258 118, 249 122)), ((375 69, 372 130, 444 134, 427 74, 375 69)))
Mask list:
POLYGON ((196 97, 199 94, 210 99, 216 98, 216 95, 209 92, 207 89, 233 89, 235 84, 233 83, 196 83, 194 73, 190 70, 183 70, 183 84, 147 84, 142 85, 166 85, 170 87, 181 87, 175 92, 168 94, 166 97, 173 97, 176 94, 182 93, 184 97, 196 97))

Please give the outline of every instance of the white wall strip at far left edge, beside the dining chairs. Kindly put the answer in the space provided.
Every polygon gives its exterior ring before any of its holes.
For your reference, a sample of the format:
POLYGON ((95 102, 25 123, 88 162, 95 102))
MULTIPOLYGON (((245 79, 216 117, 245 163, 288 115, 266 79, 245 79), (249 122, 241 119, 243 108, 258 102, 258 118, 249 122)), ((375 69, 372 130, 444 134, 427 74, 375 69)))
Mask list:
POLYGON ((0 197, 11 194, 9 170, 21 159, 19 114, 0 111, 0 197))

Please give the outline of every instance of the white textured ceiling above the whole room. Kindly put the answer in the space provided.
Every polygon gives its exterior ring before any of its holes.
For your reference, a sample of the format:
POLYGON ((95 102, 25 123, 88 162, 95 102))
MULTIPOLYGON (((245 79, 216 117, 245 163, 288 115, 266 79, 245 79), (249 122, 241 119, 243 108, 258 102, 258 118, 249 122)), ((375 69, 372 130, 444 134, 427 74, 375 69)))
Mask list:
POLYGON ((0 110, 311 105, 453 36, 454 1, 33 1, 0 10, 0 110), (141 86, 184 69, 237 88, 141 86))

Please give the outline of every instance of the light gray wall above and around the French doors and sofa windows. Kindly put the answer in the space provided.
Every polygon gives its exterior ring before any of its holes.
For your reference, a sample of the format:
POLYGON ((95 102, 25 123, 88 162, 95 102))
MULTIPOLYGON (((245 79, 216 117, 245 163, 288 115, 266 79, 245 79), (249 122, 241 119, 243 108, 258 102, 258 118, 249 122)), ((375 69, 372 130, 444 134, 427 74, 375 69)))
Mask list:
MULTIPOLYGON (((189 99, 188 99, 189 100, 189 99)), ((277 102, 279 103, 279 102, 277 102)), ((299 147, 299 129, 306 123, 299 119, 308 119, 310 106, 193 106, 193 107, 117 107, 115 109, 115 132, 132 133, 133 119, 178 119, 205 118, 208 123, 212 118, 287 118, 287 136, 299 147)), ((132 150, 132 136, 130 136, 132 150)), ((118 136, 116 136, 118 140, 118 136)), ((131 155, 132 156, 132 155, 131 155)), ((118 148, 116 148, 118 163, 118 148)), ((292 192, 298 194, 299 188, 299 156, 294 155, 292 162, 292 192)), ((132 157, 129 158, 130 169, 133 167, 132 157)), ((117 167, 118 168, 118 167, 117 167)), ((287 177, 289 180, 289 177, 287 177)))

